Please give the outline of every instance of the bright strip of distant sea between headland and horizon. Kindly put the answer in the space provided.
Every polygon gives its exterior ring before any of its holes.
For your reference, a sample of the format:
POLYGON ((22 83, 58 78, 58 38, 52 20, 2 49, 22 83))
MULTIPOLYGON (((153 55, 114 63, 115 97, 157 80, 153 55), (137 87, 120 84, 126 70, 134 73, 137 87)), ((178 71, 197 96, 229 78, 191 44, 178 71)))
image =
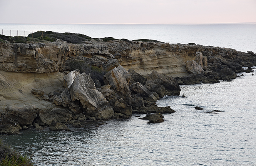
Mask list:
MULTIPOLYGON (((114 37, 154 39, 169 43, 196 43, 200 45, 234 48, 238 51, 256 52, 256 23, 237 24, 3 24, 0 34, 25 35, 38 30, 82 33, 93 38, 114 37)), ((26 35, 26 36, 27 36, 26 35)))

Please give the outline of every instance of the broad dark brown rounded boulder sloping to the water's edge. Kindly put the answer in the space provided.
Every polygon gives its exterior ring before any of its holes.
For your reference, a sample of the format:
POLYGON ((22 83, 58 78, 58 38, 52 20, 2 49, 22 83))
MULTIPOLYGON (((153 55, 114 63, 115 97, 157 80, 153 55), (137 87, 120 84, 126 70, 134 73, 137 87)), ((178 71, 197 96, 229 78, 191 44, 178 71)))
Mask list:
POLYGON ((163 85, 170 95, 179 95, 181 91, 181 88, 174 78, 159 74, 157 71, 152 71, 152 73, 147 76, 146 84, 150 83, 163 85))

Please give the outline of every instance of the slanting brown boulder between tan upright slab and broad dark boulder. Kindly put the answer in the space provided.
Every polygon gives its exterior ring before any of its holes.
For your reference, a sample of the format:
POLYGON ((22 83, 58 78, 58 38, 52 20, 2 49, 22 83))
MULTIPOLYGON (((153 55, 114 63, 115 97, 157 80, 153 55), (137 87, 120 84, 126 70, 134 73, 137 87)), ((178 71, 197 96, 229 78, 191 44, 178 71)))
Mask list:
POLYGON ((133 83, 130 87, 130 89, 135 93, 135 94, 140 94, 142 98, 148 101, 156 102, 157 98, 154 96, 151 91, 149 91, 145 86, 143 86, 141 83, 136 82, 133 83))

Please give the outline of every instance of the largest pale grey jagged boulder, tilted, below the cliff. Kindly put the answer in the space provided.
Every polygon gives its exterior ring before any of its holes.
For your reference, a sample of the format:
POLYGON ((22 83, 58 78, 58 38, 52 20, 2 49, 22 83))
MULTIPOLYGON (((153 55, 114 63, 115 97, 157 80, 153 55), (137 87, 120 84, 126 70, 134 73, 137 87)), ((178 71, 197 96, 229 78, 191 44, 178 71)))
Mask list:
POLYGON ((95 87, 92 78, 82 73, 77 75, 69 89, 72 101, 80 101, 86 115, 96 120, 107 120, 114 116, 114 111, 106 98, 95 87))

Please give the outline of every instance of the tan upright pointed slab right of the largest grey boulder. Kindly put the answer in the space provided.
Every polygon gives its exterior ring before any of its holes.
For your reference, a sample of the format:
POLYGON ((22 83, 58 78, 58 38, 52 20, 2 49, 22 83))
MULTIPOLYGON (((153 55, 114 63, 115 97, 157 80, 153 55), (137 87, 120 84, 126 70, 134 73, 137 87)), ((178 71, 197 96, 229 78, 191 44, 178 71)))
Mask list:
POLYGON ((124 76, 124 70, 119 67, 115 67, 104 75, 105 85, 110 85, 120 98, 123 98, 129 103, 131 98, 131 91, 129 89, 127 80, 124 76))

